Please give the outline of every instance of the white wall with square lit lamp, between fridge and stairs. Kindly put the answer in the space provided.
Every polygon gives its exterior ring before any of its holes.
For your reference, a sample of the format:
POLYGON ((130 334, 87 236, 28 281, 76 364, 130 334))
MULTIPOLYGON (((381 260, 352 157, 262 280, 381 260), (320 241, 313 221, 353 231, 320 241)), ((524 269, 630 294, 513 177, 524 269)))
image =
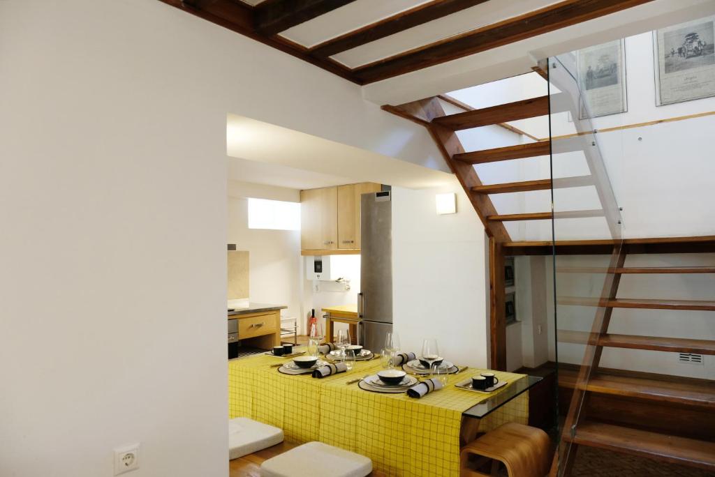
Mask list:
POLYGON ((393 188, 393 320, 402 347, 437 338, 450 361, 486 366, 488 281, 485 234, 459 184, 393 188), (457 214, 438 216, 435 194, 457 194, 457 214))

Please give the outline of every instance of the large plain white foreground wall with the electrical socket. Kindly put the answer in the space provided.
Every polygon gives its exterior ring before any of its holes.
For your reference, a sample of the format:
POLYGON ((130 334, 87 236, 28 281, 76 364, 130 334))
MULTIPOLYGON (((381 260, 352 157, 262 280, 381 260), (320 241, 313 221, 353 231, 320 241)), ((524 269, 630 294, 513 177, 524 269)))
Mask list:
POLYGON ((159 1, 0 1, 0 45, 0 474, 107 476, 141 442, 135 477, 226 476, 227 113, 433 141, 159 1))

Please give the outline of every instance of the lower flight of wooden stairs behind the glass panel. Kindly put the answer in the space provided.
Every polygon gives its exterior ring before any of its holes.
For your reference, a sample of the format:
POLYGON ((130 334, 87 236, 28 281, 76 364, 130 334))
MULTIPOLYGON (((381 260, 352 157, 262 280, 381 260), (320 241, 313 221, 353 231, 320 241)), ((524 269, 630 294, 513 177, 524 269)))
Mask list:
MULTIPOLYGON (((677 416, 683 412, 683 408, 691 413, 703 412, 704 419, 715 413, 715 381, 684 380, 672 376, 613 376, 599 369, 603 348, 608 347, 715 355, 715 341, 712 340, 608 333, 615 308, 715 311, 715 301, 616 298, 621 276, 626 273, 715 273, 715 267, 626 267, 625 260, 626 252, 623 248, 618 248, 611 257, 611 266, 600 270, 596 268, 595 273, 608 272, 603 298, 557 298, 559 305, 598 307, 591 333, 568 330, 559 330, 557 333, 557 341, 586 345, 583 363, 578 375, 573 379, 571 405, 562 435, 562 455, 566 457, 563 475, 570 473, 578 446, 605 448, 715 471, 715 427, 711 428, 711 431, 704 431, 702 438, 691 438, 692 436, 674 435, 679 432, 678 429, 659 429, 656 423, 647 421, 630 423, 630 426, 616 426, 603 421, 614 421, 618 416, 591 410, 591 396, 600 395, 628 398, 634 402, 649 401, 656 409, 651 418, 658 418, 661 413, 673 413, 677 416), (669 408, 670 405, 679 407, 669 408)), ((557 269, 558 273, 594 273, 593 270, 557 269)), ((568 381, 568 378, 565 381, 568 381)), ((561 376, 559 382, 561 384, 561 376)), ((715 425, 715 421, 711 425, 715 425)), ((687 431, 687 427, 681 430, 687 431)))

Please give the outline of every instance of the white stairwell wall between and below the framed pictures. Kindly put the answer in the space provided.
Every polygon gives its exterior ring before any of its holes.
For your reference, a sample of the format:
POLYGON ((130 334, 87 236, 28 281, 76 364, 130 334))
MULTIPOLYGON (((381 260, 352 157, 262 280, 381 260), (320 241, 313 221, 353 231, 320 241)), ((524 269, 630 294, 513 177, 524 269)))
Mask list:
MULTIPOLYGON (((715 111, 715 97, 656 106, 651 32, 628 37, 625 44, 628 111, 592 120, 593 128, 601 131, 596 135, 598 146, 618 205, 623 207, 623 236, 715 234, 715 210, 708 200, 715 162, 707 134, 715 129, 715 116, 603 131, 715 111)), ((563 114, 558 120, 563 123, 563 114)), ((555 161, 554 176, 579 174, 574 168, 587 171, 581 153, 556 157, 559 162, 555 161)), ((563 189, 554 194, 554 205, 557 210, 591 209, 598 206, 598 198, 593 188, 563 189)), ((557 223, 558 240, 592 237, 608 238, 605 221, 557 223)))

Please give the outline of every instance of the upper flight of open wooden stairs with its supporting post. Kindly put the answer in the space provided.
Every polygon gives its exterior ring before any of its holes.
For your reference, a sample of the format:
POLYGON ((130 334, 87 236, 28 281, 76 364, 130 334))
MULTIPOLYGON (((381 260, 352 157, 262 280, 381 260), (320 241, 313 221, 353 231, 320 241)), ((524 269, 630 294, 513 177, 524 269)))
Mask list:
MULTIPOLYGON (((499 147, 482 151, 465 151, 455 131, 478 128, 482 126, 498 125, 507 129, 514 129, 513 126, 506 125, 506 121, 516 121, 537 116, 547 116, 555 111, 576 111, 576 105, 569 104, 568 98, 563 94, 553 96, 540 96, 537 98, 515 101, 513 103, 491 106, 483 109, 473 109, 470 106, 456 101, 449 96, 434 96, 432 98, 413 101, 399 106, 385 105, 383 110, 403 117, 417 124, 425 126, 433 137, 435 144, 440 149, 445 161, 450 166, 455 176, 460 181, 463 189, 467 193, 470 202, 477 212, 484 229, 489 237, 490 247, 490 282, 501 283, 503 280, 503 263, 505 243, 511 242, 511 238, 504 223, 513 221, 543 221, 551 219, 576 219, 603 217, 609 223, 615 221, 604 210, 586 211, 543 211, 529 214, 499 214, 490 196, 495 194, 509 194, 526 191, 544 191, 551 189, 551 179, 536 179, 532 181, 518 181, 507 184, 483 184, 480 180, 475 165, 488 164, 498 161, 511 161, 516 159, 526 159, 537 156, 548 156, 552 153, 551 141, 534 141, 516 146, 499 147), (443 102, 458 106, 464 111, 457 114, 446 114, 443 102)), ((518 131, 518 130, 517 130, 518 131)), ((523 133, 523 131, 520 131, 523 133)), ((525 136, 528 136, 525 134, 525 136)), ((534 139, 531 137, 531 139, 534 139)), ((560 145, 559 152, 566 150, 582 150, 583 140, 577 138, 575 141, 567 141, 560 145)), ((588 144, 590 146, 590 143, 588 144)), ((598 167, 594 166, 595 161, 588 159, 589 169, 592 174, 598 167)), ((599 197, 607 194, 601 191, 598 177, 574 176, 553 180, 553 187, 563 189, 568 187, 595 186, 599 197)), ((601 201, 607 204, 607 201, 601 201)), ((610 204, 612 205, 612 204, 610 204)), ((506 368, 506 321, 504 317, 504 291, 503 287, 490 287, 490 320, 492 336, 492 355, 490 356, 490 366, 495 369, 506 368), (496 346, 494 344, 496 343, 496 346)))

